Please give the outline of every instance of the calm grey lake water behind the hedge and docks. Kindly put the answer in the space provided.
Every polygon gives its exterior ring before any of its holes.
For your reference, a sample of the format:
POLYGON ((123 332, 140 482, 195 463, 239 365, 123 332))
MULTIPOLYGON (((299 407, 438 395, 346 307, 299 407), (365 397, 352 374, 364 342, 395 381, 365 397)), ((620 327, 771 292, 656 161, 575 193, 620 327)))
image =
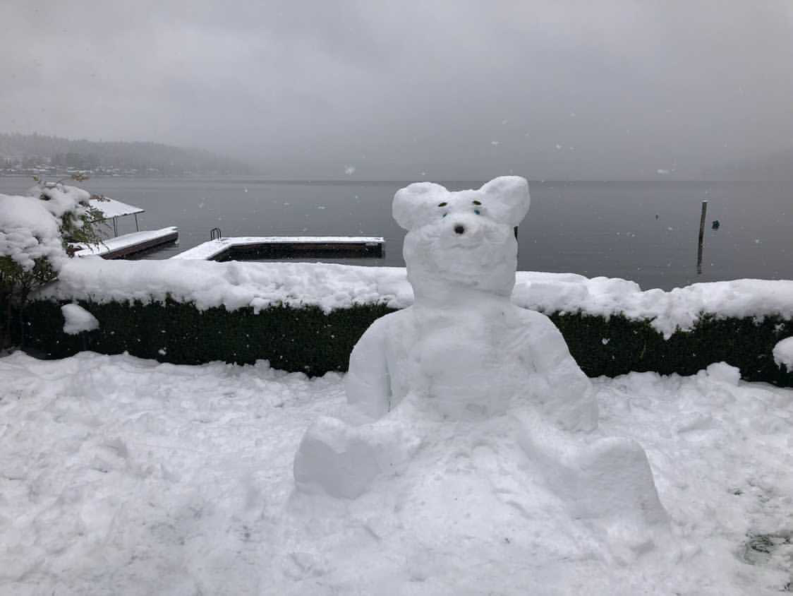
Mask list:
MULTIPOLYGON (((383 259, 339 262, 401 266, 404 231, 391 217, 391 200, 405 184, 96 178, 80 186, 145 209, 141 229, 178 226, 178 247, 147 258, 173 256, 219 227, 224 236, 384 236, 383 259)), ((481 183, 443 184, 460 190, 481 183)), ((4 178, 0 192, 30 185, 4 178)), ((531 210, 519 229, 520 270, 621 277, 665 290, 720 279, 793 279, 793 183, 534 182, 530 189, 531 210), (709 203, 698 273, 703 200, 709 203), (714 220, 719 229, 712 229, 714 220)), ((132 217, 119 224, 119 233, 135 229, 132 217)))

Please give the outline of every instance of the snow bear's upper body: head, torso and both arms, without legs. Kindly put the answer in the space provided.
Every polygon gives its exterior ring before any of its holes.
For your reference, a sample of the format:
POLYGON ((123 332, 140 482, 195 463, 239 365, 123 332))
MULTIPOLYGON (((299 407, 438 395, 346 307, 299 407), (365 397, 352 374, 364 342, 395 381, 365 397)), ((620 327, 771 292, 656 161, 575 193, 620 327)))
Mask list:
POLYGON ((379 418, 412 395, 422 410, 465 419, 505 413, 529 391, 562 428, 596 426, 589 381, 561 334, 548 317, 510 302, 513 229, 528 209, 527 182, 516 176, 479 190, 416 183, 397 192, 393 215, 408 230, 403 252, 416 301, 375 321, 354 348, 352 404, 379 418))

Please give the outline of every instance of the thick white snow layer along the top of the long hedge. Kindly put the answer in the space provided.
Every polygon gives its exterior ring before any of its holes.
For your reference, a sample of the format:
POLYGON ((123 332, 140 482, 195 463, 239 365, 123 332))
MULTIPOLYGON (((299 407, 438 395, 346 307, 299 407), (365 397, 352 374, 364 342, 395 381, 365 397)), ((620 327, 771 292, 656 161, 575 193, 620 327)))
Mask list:
MULTIPOLYGON (((69 260, 59 282, 41 298, 94 302, 162 302, 167 295, 198 309, 235 310, 271 304, 320 306, 328 312, 354 303, 409 306, 413 293, 402 267, 354 267, 328 263, 239 263, 197 260, 69 260)), ((651 319, 666 337, 691 329, 700 313, 720 317, 793 317, 793 281, 736 279, 646 290, 624 279, 585 278, 572 273, 519 271, 512 298, 543 313, 584 312, 606 317, 622 313, 651 319)))

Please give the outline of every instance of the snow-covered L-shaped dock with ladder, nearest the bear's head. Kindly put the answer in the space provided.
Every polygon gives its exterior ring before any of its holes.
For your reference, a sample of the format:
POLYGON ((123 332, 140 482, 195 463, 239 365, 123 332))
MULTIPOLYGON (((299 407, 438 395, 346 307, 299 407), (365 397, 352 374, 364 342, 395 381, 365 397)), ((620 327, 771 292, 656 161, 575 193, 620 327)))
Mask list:
POLYGON ((379 236, 236 236, 198 244, 171 259, 223 260, 225 256, 382 256, 379 236))

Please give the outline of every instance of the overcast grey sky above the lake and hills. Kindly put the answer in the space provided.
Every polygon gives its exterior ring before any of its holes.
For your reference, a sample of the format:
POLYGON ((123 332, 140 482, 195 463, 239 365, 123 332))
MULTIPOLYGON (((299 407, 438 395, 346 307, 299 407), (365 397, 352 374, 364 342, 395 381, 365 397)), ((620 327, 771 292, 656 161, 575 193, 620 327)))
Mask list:
POLYGON ((0 131, 275 177, 637 179, 793 147, 787 0, 4 0, 0 23, 0 131))

